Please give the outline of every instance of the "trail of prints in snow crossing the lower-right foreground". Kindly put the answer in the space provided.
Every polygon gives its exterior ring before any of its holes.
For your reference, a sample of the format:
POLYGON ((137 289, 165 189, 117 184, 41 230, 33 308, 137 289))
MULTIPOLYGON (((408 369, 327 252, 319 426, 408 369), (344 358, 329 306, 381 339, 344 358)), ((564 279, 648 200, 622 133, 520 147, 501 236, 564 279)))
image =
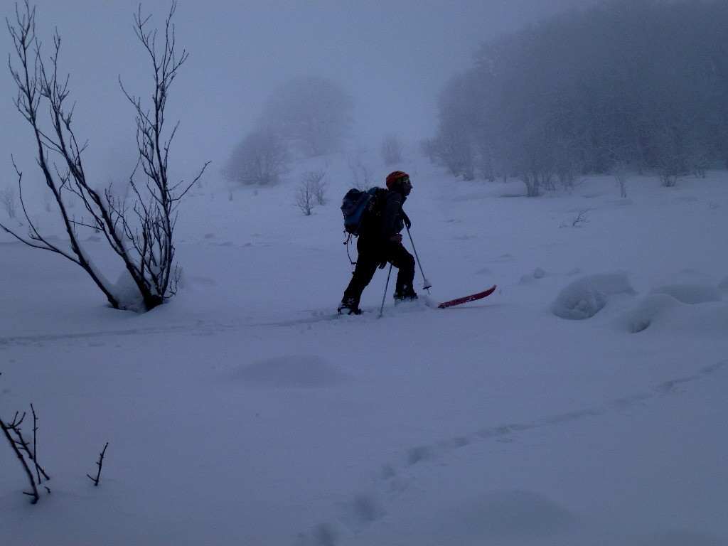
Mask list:
MULTIPOLYGON (((638 392, 634 395, 620 397, 593 408, 584 408, 577 411, 555 414, 532 422, 502 424, 495 427, 476 430, 467 435, 459 435, 446 440, 423 446, 409 448, 397 463, 380 464, 380 471, 373 479, 371 488, 368 491, 360 491, 348 495, 348 500, 341 503, 341 510, 337 516, 338 523, 346 526, 353 534, 363 531, 368 525, 379 520, 385 513, 384 503, 392 502, 403 494, 414 479, 411 472, 421 462, 443 459, 454 453, 454 451, 472 446, 475 443, 488 440, 506 441, 505 439, 515 432, 526 432, 542 429, 551 426, 561 426, 580 419, 596 417, 624 411, 635 405, 665 397, 673 392, 678 385, 705 379, 716 373, 725 365, 728 360, 721 360, 718 363, 706 365, 696 373, 687 377, 668 379, 661 383, 654 384, 649 390, 638 392)), ((336 544, 336 524, 319 523, 314 526, 309 534, 298 535, 297 545, 300 546, 333 546, 336 544)))

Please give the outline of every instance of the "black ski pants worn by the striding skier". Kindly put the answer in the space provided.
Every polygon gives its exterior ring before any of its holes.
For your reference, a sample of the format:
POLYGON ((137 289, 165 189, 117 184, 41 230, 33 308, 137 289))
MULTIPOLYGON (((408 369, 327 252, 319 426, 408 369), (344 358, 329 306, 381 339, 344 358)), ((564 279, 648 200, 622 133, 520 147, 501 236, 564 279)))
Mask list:
POLYGON ((362 292, 374 277, 376 268, 384 262, 389 262, 389 264, 397 268, 396 293, 407 293, 413 290, 414 257, 408 253, 403 245, 387 242, 382 248, 379 241, 372 242, 365 237, 359 237, 357 252, 359 253, 357 265, 354 268, 352 280, 349 281, 349 286, 344 290, 344 298, 341 301, 347 301, 351 298, 358 307, 362 292))

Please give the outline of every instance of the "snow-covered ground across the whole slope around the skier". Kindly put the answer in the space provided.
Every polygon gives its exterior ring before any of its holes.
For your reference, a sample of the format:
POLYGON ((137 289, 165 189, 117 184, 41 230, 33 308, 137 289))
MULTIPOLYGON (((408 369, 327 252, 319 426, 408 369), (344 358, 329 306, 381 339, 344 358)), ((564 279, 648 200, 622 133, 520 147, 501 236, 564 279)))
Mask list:
POLYGON ((385 269, 368 313, 326 319, 351 271, 338 157, 257 191, 207 175, 183 288, 147 314, 0 234, 0 417, 33 403, 52 491, 29 504, 0 438, 0 544, 728 544, 728 174, 528 199, 399 168, 432 299, 492 296, 395 309, 390 283, 380 319, 385 269), (304 216, 311 169, 329 202, 304 216))

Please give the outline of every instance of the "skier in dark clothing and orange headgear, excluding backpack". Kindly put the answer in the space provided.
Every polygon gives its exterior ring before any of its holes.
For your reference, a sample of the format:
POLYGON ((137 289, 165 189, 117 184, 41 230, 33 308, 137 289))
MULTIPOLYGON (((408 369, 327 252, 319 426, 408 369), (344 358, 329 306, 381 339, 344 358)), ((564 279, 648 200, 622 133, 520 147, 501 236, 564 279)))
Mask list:
POLYGON ((367 218, 360 229, 357 240, 357 264, 352 280, 339 304, 339 313, 361 314, 359 300, 364 288, 371 282, 376 268, 387 263, 397 268, 395 301, 411 301, 417 298, 412 288, 414 280, 414 257, 402 245, 400 232, 411 223, 402 210, 402 205, 412 191, 409 175, 395 170, 387 176, 387 191, 380 195, 381 218, 367 218), (379 221, 378 221, 379 220, 379 221))

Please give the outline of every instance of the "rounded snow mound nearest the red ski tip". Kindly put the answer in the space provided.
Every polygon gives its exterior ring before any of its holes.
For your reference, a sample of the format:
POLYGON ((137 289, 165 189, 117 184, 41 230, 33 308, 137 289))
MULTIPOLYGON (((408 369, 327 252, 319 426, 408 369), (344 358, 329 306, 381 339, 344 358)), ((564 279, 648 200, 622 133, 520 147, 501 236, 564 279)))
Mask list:
POLYGON ((635 293, 624 274, 587 275, 561 290, 551 312, 567 320, 584 320, 604 309, 611 296, 635 293))

